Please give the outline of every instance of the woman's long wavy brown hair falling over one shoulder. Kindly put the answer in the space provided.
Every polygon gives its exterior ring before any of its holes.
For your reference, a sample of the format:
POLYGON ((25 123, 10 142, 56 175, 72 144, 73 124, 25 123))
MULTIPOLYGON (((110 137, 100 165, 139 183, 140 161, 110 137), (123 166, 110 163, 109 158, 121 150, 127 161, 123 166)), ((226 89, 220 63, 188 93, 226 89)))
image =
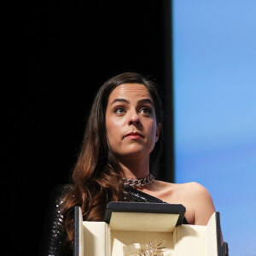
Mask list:
MULTIPOLYGON (((80 206, 84 220, 102 221, 109 201, 125 201, 123 172, 108 145, 105 113, 108 96, 120 84, 143 84, 152 96, 157 123, 162 123, 161 101, 155 84, 138 73, 121 73, 102 85, 96 94, 73 170, 74 189, 63 200, 67 247, 73 247, 73 207, 80 206)), ((150 154, 150 172, 156 174, 162 135, 150 154)))

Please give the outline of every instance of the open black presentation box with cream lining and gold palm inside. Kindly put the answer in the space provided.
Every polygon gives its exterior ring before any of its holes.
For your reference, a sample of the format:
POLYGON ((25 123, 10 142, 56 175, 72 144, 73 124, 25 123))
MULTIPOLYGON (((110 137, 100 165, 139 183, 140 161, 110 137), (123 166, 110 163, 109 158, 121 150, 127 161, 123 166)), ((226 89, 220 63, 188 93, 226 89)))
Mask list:
POLYGON ((202 226, 182 224, 185 211, 183 205, 110 202, 105 221, 90 222, 75 207, 74 255, 221 256, 219 213, 202 226))

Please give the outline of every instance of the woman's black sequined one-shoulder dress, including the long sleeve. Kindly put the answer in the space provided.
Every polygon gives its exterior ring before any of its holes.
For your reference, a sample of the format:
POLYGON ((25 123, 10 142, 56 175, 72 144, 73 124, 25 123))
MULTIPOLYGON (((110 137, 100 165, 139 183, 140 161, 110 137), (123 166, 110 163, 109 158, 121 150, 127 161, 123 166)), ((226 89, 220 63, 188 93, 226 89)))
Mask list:
MULTIPOLYGON (((64 196, 71 189, 73 189, 72 184, 58 185, 51 192, 49 197, 49 206, 45 216, 43 236, 38 249, 38 256, 69 256, 66 253, 63 244, 66 232, 63 227, 61 205, 64 196)), ((126 192, 126 201, 165 203, 154 196, 148 195, 129 186, 125 186, 124 189, 126 192)), ((187 224, 185 218, 183 220, 183 224, 187 224)))

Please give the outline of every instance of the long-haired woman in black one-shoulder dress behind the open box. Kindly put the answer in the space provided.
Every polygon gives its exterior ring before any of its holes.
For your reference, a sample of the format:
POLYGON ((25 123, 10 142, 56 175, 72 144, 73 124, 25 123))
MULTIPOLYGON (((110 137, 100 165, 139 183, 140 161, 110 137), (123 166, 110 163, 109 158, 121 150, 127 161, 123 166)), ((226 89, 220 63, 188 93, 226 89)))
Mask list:
POLYGON ((39 255, 71 254, 76 205, 84 220, 102 221, 109 201, 165 201, 183 204, 189 224, 207 224, 215 212, 207 189, 154 179, 161 123, 157 89, 140 74, 121 73, 102 85, 90 111, 73 185, 52 195, 55 212, 46 227, 51 231, 39 255))

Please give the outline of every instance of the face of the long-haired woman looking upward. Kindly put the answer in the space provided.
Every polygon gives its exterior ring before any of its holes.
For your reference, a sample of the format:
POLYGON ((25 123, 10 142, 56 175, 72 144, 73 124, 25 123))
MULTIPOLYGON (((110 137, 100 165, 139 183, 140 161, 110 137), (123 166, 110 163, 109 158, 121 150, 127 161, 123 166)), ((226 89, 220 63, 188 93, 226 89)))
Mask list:
POLYGON ((154 102, 143 84, 121 84, 108 97, 108 143, 119 160, 145 160, 160 136, 154 102))

